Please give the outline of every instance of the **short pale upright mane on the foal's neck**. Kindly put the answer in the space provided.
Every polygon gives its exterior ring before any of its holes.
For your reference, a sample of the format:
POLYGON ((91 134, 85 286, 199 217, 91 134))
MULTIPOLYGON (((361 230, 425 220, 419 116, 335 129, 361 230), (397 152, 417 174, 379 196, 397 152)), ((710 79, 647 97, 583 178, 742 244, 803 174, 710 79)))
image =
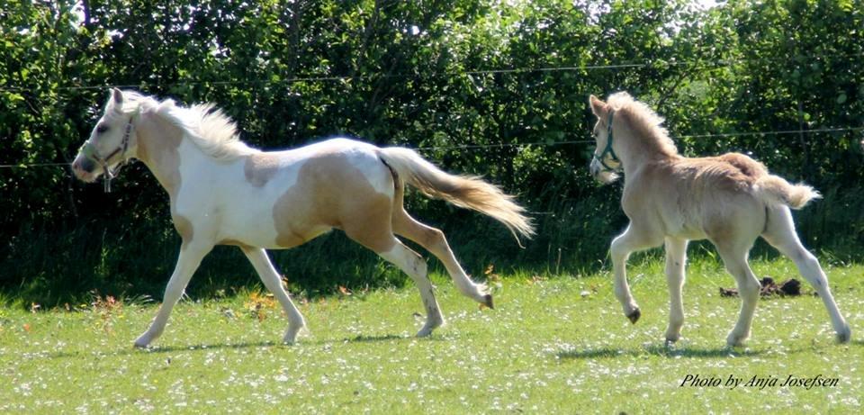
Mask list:
POLYGON ((670 156, 678 154, 669 132, 662 126, 663 118, 647 104, 636 101, 626 92, 609 95, 607 103, 616 111, 616 115, 624 116, 630 128, 644 139, 645 144, 653 144, 657 150, 670 156))

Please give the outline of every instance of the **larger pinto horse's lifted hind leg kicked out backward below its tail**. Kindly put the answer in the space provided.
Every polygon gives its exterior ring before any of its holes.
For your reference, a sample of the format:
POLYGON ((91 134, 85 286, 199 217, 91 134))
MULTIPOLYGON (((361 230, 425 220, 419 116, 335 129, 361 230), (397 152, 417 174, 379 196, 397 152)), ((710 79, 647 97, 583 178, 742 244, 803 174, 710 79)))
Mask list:
POLYGON ((486 284, 475 284, 465 274, 464 269, 462 269, 462 266, 459 265, 459 262, 453 255, 453 251, 450 250, 444 232, 420 223, 412 218, 408 212, 405 212, 404 209, 399 207, 396 209, 398 209, 398 212, 393 215, 393 230, 396 234, 417 242, 421 247, 426 248, 432 255, 437 257, 447 268, 447 273, 453 278, 453 282, 461 293, 476 302, 481 302, 489 308, 493 308, 492 295, 489 293, 486 284))

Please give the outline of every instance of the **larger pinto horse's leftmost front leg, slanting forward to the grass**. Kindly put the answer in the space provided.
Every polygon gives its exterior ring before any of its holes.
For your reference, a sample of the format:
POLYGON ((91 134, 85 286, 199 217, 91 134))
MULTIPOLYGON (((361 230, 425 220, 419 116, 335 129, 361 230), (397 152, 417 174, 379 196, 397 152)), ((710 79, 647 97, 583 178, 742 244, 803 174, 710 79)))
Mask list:
POLYGON ((183 295, 186 285, 189 284, 189 280, 192 279, 192 275, 201 264, 202 258, 211 249, 211 245, 196 246, 184 242, 183 248, 180 248, 180 256, 177 257, 174 273, 165 287, 165 297, 162 300, 162 306, 159 307, 156 318, 150 323, 150 328, 135 340, 135 347, 148 347, 151 341, 162 335, 171 310, 174 309, 175 304, 180 300, 180 296, 183 295))

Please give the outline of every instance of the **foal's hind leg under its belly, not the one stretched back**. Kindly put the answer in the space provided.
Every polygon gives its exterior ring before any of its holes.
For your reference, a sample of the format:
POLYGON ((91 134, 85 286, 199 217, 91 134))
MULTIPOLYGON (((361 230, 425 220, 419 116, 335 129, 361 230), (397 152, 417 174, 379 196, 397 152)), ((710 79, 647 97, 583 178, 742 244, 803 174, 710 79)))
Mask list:
POLYGON ((753 322, 753 313, 756 311, 756 302, 759 301, 759 290, 761 284, 756 275, 753 275, 747 264, 747 254, 750 247, 732 247, 716 245, 720 257, 729 274, 735 277, 738 286, 738 294, 741 296, 741 311, 738 314, 738 322, 734 329, 726 337, 729 346, 741 346, 750 337, 750 328, 753 322))

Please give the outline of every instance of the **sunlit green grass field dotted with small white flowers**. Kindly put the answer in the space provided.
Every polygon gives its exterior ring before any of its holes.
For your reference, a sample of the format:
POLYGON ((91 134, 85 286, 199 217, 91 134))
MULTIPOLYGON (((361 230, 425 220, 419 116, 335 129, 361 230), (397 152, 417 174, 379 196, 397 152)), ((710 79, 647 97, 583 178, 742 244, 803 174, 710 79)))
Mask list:
MULTIPOLYGON (((757 275, 797 276, 788 261, 757 275)), ((493 275, 496 310, 481 310, 435 276, 448 319, 431 338, 413 287, 302 302, 311 329, 278 343, 286 324, 256 291, 182 302, 155 347, 131 342, 153 304, 94 299, 67 310, 0 309, 2 413, 854 413, 864 403, 864 266, 828 270, 852 327, 837 345, 812 295, 760 302, 747 347, 725 347, 739 301, 710 260, 689 267, 684 338, 663 346, 662 264, 631 267, 643 318, 622 315, 611 279, 493 275), (96 301, 98 300, 98 301, 96 301), (681 385, 698 375, 719 385, 681 385), (782 386, 797 378, 835 385, 782 386), (730 376, 741 379, 732 388, 730 376), (764 387, 746 386, 756 376, 764 387), (763 381, 764 382, 764 381, 763 381)), ((806 293, 811 290, 806 285, 806 293)))

